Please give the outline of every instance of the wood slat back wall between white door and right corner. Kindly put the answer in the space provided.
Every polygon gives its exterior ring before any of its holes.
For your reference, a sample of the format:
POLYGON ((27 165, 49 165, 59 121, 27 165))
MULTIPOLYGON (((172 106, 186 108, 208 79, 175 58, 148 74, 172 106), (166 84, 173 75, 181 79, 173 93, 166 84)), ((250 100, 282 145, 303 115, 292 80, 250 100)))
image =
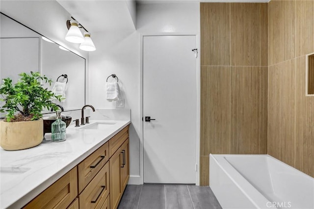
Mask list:
POLYGON ((267 153, 267 4, 200 9, 200 184, 209 185, 210 153, 267 153))

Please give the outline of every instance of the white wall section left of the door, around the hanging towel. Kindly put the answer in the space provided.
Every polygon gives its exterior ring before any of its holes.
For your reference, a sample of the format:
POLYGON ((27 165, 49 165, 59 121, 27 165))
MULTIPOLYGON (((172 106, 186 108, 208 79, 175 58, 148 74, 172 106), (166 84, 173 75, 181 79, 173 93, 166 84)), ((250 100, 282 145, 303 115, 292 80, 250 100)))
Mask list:
MULTIPOLYGON (((89 101, 96 108, 115 108, 115 102, 105 100, 105 82, 111 74, 119 78, 125 108, 131 109, 130 173, 139 176, 139 34, 137 32, 94 33, 97 50, 89 60, 89 101)), ((109 78, 108 81, 114 78, 109 78)))

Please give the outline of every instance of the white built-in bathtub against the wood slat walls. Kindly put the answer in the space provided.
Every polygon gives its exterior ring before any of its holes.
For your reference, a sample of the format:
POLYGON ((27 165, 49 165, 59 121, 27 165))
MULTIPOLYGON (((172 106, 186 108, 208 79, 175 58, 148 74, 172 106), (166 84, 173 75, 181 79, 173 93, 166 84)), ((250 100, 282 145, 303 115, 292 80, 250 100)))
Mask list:
POLYGON ((314 178, 269 155, 209 155, 223 209, 314 209, 314 178))

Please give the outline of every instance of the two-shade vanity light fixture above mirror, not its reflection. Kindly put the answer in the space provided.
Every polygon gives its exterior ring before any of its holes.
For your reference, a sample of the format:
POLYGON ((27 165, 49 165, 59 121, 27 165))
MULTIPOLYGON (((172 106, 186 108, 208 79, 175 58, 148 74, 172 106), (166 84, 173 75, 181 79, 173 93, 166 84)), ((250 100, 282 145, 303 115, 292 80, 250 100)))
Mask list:
POLYGON ((81 24, 79 24, 73 17, 71 17, 73 20, 67 21, 67 27, 69 29, 67 35, 65 36, 65 40, 71 42, 71 43, 80 43, 79 49, 83 51, 95 51, 95 45, 90 38, 90 33, 83 27, 81 24), (86 32, 84 32, 84 36, 82 35, 79 28, 83 28, 86 32))

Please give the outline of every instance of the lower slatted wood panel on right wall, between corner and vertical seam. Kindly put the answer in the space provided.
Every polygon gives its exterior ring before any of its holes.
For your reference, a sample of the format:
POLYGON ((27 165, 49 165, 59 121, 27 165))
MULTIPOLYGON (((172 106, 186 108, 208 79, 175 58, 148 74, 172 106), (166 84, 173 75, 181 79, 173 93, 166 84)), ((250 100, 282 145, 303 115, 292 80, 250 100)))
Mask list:
POLYGON ((294 65, 290 60, 268 69, 268 153, 288 164, 295 157, 294 65))

